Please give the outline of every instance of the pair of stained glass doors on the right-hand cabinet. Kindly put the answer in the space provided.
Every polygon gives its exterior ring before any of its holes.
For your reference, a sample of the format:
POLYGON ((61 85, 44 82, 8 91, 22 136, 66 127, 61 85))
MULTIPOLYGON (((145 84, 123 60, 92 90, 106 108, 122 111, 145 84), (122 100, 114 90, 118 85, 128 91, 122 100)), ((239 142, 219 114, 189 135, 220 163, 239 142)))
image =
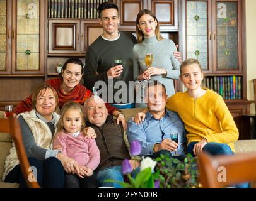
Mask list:
POLYGON ((241 3, 186 1, 186 58, 196 58, 204 73, 242 73, 241 3))

